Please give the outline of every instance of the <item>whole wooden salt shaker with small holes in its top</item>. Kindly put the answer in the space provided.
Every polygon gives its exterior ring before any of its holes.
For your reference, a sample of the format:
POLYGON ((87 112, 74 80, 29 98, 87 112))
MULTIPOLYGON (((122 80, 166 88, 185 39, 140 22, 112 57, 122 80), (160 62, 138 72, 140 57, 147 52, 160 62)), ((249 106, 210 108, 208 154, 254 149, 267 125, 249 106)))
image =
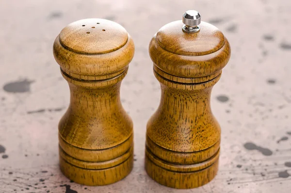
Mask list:
POLYGON ((89 186, 124 178, 133 166, 133 124, 120 84, 134 54, 131 37, 113 21, 83 19, 61 31, 53 54, 71 96, 59 123, 63 174, 89 186))

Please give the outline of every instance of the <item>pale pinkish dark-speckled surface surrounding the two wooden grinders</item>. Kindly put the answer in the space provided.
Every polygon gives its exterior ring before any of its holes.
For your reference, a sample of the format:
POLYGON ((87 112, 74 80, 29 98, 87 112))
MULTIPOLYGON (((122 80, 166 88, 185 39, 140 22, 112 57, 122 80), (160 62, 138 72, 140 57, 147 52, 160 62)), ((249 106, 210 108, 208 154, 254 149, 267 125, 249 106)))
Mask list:
POLYGON ((0 193, 290 193, 290 0, 0 0, 0 193), (222 126, 218 175, 192 190, 146 175, 146 122, 158 107, 148 43, 164 24, 196 9, 228 38, 231 59, 212 92, 222 126), (53 59, 68 23, 106 18, 133 37, 121 98, 134 121, 134 169, 108 186, 70 182, 58 167, 57 125, 69 89, 53 59))

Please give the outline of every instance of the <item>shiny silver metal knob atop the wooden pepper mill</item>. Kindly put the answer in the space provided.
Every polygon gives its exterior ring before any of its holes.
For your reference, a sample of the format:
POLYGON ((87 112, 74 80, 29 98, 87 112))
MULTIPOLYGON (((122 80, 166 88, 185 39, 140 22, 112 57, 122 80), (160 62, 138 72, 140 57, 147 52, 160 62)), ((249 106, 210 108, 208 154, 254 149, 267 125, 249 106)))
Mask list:
POLYGON ((196 33, 200 30, 198 26, 201 23, 201 16, 195 10, 188 10, 183 14, 182 21, 184 23, 182 29, 186 33, 196 33))

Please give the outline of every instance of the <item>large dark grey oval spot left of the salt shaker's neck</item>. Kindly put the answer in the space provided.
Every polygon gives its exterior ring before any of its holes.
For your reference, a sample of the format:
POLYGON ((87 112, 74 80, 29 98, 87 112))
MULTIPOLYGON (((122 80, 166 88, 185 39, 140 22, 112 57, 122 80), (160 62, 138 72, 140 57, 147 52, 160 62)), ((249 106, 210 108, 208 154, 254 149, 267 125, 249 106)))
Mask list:
POLYGON ((7 83, 4 85, 3 89, 6 92, 13 92, 13 93, 22 93, 22 92, 29 92, 30 91, 30 85, 34 81, 30 80, 23 80, 23 81, 16 81, 16 82, 11 82, 7 83))

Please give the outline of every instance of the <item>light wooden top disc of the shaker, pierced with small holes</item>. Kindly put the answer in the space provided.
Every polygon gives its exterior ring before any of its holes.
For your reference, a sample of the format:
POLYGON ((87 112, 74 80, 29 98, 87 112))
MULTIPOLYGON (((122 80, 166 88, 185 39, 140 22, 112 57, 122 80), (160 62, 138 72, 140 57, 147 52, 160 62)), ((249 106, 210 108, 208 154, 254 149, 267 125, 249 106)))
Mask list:
POLYGON ((103 54, 122 48, 128 42, 128 33, 113 21, 86 19, 65 27, 59 39, 64 47, 75 53, 103 54))

